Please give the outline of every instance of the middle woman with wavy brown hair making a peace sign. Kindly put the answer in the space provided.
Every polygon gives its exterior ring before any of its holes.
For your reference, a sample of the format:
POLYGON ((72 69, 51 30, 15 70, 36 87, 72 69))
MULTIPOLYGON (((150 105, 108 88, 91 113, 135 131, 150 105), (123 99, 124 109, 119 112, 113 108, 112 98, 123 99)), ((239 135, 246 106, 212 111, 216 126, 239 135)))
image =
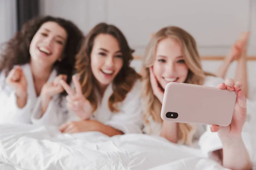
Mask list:
POLYGON ((131 68, 132 50, 116 26, 99 23, 86 36, 67 91, 67 106, 82 121, 60 127, 64 133, 99 131, 108 136, 141 132, 140 75, 131 68))

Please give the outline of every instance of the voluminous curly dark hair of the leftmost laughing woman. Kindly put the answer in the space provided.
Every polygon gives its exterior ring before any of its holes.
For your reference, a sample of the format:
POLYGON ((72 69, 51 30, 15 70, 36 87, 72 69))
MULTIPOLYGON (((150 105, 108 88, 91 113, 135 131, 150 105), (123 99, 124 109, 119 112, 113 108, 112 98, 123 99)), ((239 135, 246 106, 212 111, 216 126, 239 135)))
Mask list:
POLYGON ((24 65, 30 62, 30 42, 38 29, 49 21, 58 23, 67 31, 68 37, 63 51, 63 59, 61 61, 57 60, 54 67, 57 70, 57 74, 67 75, 67 83, 70 84, 75 70, 76 54, 84 36, 74 23, 58 17, 35 17, 24 23, 21 31, 18 31, 8 42, 2 45, 1 51, 3 53, 0 55, 0 72, 5 71, 5 76, 7 77, 15 65, 24 65))

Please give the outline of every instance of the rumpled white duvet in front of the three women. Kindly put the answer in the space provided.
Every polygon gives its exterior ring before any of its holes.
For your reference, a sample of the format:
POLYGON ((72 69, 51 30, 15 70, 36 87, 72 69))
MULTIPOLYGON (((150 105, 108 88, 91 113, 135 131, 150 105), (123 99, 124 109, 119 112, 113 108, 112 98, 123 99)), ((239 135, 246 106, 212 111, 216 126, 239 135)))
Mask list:
POLYGON ((158 136, 63 134, 56 127, 0 125, 0 170, 227 170, 200 150, 158 136))

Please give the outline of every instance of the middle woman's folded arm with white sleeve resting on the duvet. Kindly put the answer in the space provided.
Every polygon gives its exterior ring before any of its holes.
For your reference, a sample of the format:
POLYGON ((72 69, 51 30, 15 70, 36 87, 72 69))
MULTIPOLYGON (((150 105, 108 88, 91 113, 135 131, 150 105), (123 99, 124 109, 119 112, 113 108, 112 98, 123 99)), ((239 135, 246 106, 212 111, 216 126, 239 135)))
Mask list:
MULTIPOLYGON (((142 111, 140 105, 140 83, 136 83, 125 100, 121 103, 118 113, 112 113, 107 122, 97 120, 81 120, 79 122, 67 122, 61 125, 63 133, 79 133, 87 131, 99 131, 108 136, 124 133, 141 133, 142 111)), ((97 110, 99 114, 105 114, 105 108, 97 110), (101 110, 102 109, 102 110, 101 110)))

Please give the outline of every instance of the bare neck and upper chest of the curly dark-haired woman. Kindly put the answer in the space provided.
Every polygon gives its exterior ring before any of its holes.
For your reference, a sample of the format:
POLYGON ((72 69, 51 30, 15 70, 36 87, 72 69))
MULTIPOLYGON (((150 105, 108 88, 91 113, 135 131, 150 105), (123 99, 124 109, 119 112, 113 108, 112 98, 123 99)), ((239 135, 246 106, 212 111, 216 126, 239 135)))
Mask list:
POLYGON ((31 67, 34 81, 35 80, 47 81, 47 79, 49 78, 52 72, 52 66, 42 66, 39 64, 35 64, 32 61, 30 62, 30 67, 31 67))

